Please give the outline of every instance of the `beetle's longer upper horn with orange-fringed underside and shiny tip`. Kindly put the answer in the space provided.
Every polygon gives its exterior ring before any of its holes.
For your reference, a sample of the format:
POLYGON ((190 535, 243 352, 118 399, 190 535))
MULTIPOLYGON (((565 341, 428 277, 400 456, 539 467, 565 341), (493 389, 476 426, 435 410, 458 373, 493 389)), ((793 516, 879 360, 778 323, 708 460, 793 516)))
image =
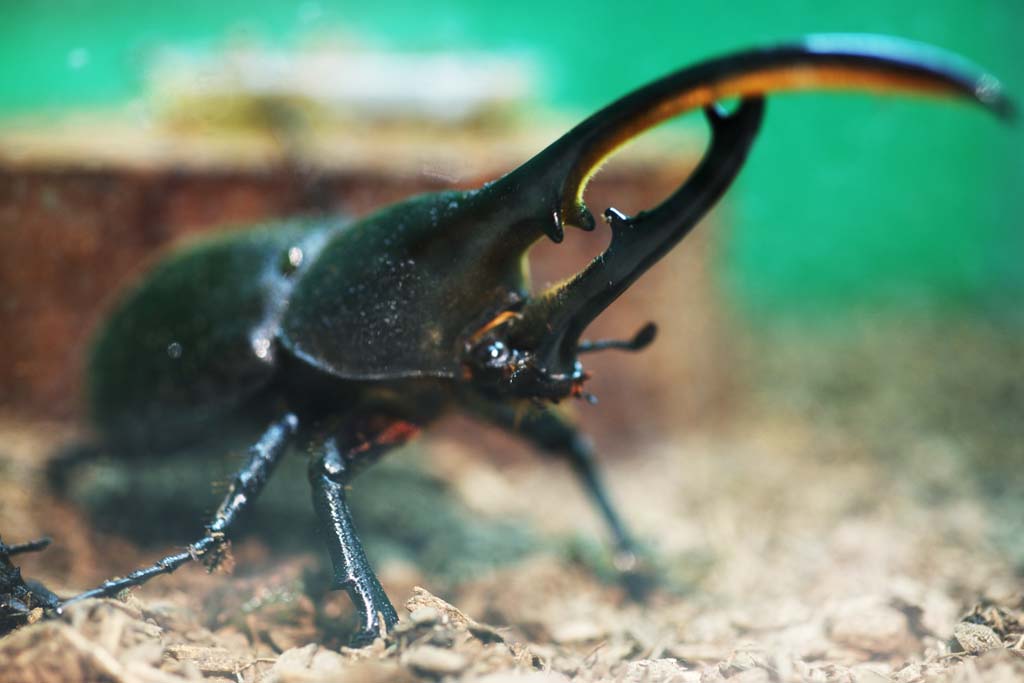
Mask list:
POLYGON ((587 182, 633 137, 723 99, 790 90, 919 93, 971 100, 1002 118, 1014 114, 994 77, 952 53, 881 36, 816 35, 670 74, 594 114, 495 184, 539 207, 544 231, 561 242, 564 223, 593 229, 583 202, 587 182))

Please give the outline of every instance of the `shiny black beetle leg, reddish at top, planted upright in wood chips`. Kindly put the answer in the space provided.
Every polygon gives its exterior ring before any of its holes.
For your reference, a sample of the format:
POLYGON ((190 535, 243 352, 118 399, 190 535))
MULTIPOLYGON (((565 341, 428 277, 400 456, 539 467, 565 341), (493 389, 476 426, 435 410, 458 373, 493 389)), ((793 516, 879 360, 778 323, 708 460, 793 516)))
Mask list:
POLYGON ((345 500, 345 485, 364 466, 418 431, 400 420, 352 422, 343 432, 324 440, 318 457, 309 466, 313 507, 334 565, 334 588, 345 589, 359 613, 359 628, 351 638, 353 647, 369 645, 382 636, 398 622, 398 614, 359 543, 345 500))

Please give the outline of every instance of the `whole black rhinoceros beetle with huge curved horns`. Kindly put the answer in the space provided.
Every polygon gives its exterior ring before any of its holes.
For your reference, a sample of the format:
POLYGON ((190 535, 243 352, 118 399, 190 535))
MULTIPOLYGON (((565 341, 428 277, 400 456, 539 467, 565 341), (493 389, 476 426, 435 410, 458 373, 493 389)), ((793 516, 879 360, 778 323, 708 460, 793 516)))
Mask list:
POLYGON ((312 502, 366 644, 397 614, 367 561, 345 486, 361 468, 462 410, 567 461, 610 528, 617 564, 636 545, 587 441, 551 403, 587 398, 585 352, 638 350, 587 342, 587 326, 682 240, 739 173, 763 95, 864 88, 973 100, 1009 117, 997 81, 930 47, 867 36, 812 36, 737 52, 654 81, 586 119, 504 177, 469 191, 414 197, 355 222, 283 220, 172 251, 99 329, 88 404, 105 447, 170 454, 251 428, 248 460, 202 538, 181 552, 60 605, 201 560, 214 565, 236 521, 286 452, 311 454, 312 502), (730 112, 720 102, 737 98, 730 112), (703 108, 709 148, 686 182, 635 216, 607 209, 607 249, 581 272, 530 295, 524 259, 563 226, 595 227, 588 179, 655 124, 703 108), (520 410, 523 405, 528 410, 520 410))

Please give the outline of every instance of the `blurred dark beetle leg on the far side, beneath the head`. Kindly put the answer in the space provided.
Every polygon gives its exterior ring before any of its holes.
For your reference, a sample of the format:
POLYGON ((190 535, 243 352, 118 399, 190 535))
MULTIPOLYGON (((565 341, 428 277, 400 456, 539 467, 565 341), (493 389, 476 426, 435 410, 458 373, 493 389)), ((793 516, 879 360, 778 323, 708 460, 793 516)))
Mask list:
POLYGON ((568 463, 611 533, 615 568, 632 597, 642 599, 650 590, 649 577, 641 560, 639 545, 623 521, 594 459, 590 440, 558 411, 543 407, 525 412, 514 403, 471 403, 470 410, 506 431, 524 438, 537 449, 568 463))

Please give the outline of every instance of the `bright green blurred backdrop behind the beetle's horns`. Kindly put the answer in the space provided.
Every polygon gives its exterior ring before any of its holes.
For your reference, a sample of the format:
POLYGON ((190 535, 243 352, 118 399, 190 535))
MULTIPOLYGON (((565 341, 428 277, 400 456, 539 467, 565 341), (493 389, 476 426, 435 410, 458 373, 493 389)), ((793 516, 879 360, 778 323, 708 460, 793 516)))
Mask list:
MULTIPOLYGON (((338 30, 383 47, 524 55, 542 75, 536 101, 580 114, 702 57, 809 32, 934 43, 983 65, 1021 96, 1022 28, 1018 0, 7 0, 0 116, 127 102, 141 93, 146 55, 167 44, 301 45, 338 30)), ((973 108, 777 97, 732 195, 720 272, 755 319, 864 309, 1019 319, 1022 186, 1021 127, 973 108)))

